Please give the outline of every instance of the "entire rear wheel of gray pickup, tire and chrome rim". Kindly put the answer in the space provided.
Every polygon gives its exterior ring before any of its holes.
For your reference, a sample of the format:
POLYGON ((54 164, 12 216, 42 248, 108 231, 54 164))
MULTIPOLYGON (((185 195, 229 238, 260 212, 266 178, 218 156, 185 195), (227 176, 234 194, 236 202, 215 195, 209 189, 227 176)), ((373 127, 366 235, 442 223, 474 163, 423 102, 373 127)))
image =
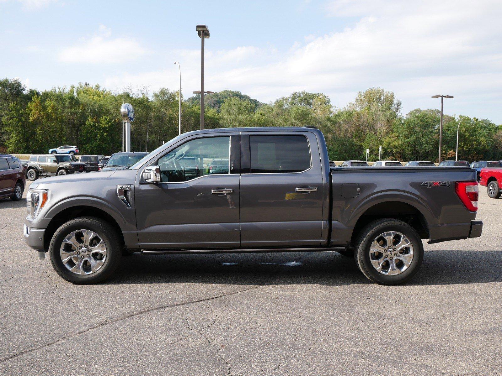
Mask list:
POLYGON ((355 258, 369 280, 399 285, 409 281, 422 265, 424 247, 413 227, 386 218, 371 222, 361 231, 355 258))

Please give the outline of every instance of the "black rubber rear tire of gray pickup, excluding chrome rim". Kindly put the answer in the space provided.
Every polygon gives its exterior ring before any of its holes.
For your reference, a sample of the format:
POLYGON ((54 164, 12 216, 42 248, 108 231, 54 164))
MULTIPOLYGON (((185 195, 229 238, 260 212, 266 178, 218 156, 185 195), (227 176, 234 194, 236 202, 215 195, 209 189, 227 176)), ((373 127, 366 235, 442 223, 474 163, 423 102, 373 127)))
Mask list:
POLYGON ((360 271, 369 280, 380 285, 400 285, 409 281, 420 269, 424 258, 424 247, 420 236, 413 227, 403 221, 385 218, 371 222, 358 236, 355 248, 356 263, 360 271), (385 275, 377 271, 370 261, 369 249, 371 243, 385 232, 396 231, 405 235, 413 246, 413 259, 410 266, 397 275, 385 275))

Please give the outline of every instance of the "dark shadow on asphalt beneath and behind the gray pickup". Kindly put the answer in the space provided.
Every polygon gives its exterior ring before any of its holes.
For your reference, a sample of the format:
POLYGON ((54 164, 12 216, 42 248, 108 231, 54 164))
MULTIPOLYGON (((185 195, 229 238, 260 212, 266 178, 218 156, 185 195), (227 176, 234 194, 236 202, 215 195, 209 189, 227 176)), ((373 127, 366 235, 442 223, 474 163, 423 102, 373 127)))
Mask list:
MULTIPOLYGON (((502 251, 426 251, 407 285, 502 281, 502 251)), ((337 252, 140 255, 122 258, 110 284, 206 283, 341 286, 371 283, 337 252), (266 282, 264 282, 266 281, 266 282)))

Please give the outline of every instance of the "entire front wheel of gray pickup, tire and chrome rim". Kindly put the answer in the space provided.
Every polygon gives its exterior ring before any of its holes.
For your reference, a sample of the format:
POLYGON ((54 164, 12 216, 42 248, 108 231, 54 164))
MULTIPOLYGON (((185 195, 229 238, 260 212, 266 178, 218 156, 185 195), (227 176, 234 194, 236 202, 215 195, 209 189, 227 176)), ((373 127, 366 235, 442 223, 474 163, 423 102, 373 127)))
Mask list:
POLYGON ((51 264, 61 278, 74 284, 98 283, 120 263, 122 242, 105 221, 80 217, 63 224, 49 245, 51 264))

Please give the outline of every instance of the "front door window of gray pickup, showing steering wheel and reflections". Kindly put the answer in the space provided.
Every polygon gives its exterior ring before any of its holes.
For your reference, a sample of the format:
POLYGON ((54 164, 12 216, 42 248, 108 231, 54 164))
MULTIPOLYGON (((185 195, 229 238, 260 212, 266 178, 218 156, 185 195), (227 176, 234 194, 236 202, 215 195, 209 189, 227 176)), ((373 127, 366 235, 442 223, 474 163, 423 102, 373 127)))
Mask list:
POLYGON ((229 136, 190 140, 159 159, 161 180, 187 181, 208 174, 229 173, 229 153, 229 136))

